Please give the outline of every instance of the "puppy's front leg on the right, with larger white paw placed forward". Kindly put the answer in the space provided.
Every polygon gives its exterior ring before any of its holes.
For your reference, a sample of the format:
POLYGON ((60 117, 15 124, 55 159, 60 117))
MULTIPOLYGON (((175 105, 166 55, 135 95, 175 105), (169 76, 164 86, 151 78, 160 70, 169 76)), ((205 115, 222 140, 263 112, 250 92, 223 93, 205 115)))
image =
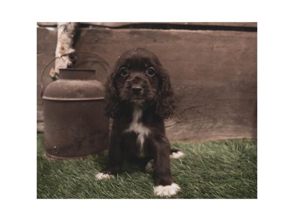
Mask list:
POLYGON ((155 143, 155 195, 171 196, 181 189, 172 179, 170 149, 167 138, 155 143))

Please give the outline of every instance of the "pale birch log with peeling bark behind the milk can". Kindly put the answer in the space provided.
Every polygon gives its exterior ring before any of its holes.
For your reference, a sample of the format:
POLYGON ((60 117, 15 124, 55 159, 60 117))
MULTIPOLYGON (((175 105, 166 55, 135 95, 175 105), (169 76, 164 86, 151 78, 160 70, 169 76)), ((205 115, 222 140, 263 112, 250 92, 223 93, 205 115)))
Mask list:
POLYGON ((50 76, 52 78, 59 74, 60 68, 67 68, 72 65, 72 61, 68 55, 64 54, 74 52, 73 49, 73 36, 76 31, 77 22, 58 22, 57 23, 57 45, 55 51, 55 57, 59 57, 55 60, 55 68, 51 68, 50 76))

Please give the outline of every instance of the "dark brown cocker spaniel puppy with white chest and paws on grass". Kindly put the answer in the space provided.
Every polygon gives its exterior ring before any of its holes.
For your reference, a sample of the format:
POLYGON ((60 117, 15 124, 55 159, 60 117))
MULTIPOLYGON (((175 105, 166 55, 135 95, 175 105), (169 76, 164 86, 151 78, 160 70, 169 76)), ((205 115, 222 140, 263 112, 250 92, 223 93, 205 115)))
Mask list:
POLYGON ((176 194, 170 157, 183 155, 171 150, 164 119, 172 116, 173 90, 169 74, 153 53, 130 49, 118 59, 106 83, 106 113, 113 118, 109 146, 109 166, 98 180, 121 172, 123 159, 146 162, 154 171, 156 195, 176 194))

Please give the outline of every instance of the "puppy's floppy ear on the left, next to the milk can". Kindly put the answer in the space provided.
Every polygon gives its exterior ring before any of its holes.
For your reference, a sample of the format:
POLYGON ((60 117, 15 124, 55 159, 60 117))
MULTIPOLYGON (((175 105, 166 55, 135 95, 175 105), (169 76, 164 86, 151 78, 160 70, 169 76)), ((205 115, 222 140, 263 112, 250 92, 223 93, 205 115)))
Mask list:
POLYGON ((111 118, 115 118, 120 111, 119 92, 114 85, 114 80, 116 76, 115 73, 116 71, 114 70, 105 83, 105 112, 106 116, 111 118))

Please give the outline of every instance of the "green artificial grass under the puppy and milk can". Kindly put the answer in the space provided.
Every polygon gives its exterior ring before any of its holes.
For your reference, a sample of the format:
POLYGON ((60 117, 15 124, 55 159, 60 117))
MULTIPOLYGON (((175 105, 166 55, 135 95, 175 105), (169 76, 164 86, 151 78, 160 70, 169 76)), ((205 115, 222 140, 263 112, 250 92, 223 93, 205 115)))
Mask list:
MULTIPOLYGON (((257 198, 257 142, 223 140, 172 142, 185 153, 172 159, 172 174, 181 191, 169 198, 257 198)), ((37 136, 37 198, 160 198, 153 195, 153 174, 125 163, 115 179, 96 181, 107 163, 102 156, 50 160, 44 135, 37 136)), ((166 198, 166 197, 161 197, 166 198)))

